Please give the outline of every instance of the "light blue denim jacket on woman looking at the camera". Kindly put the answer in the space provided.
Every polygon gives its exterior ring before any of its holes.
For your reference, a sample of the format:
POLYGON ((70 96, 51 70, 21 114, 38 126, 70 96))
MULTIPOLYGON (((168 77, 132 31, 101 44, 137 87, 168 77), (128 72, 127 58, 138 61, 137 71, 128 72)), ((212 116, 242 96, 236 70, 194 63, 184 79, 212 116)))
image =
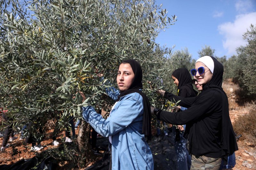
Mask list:
MULTIPOLYGON (((117 99, 119 90, 108 88, 117 99)), ((120 98, 105 120, 93 107, 83 107, 83 118, 103 137, 112 137, 112 169, 154 169, 151 150, 142 131, 143 99, 139 93, 120 98)))

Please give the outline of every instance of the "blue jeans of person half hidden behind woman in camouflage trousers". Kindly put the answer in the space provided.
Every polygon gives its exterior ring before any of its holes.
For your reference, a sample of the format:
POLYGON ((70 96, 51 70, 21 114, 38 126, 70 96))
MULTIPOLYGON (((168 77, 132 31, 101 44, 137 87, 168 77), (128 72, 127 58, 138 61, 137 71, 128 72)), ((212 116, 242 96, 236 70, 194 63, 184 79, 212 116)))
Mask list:
POLYGON ((173 133, 173 142, 175 153, 177 156, 178 169, 179 170, 187 170, 190 169, 191 166, 191 156, 188 153, 188 149, 186 147, 187 139, 183 137, 184 131, 181 131, 180 141, 175 141, 175 130, 176 127, 172 126, 173 133))

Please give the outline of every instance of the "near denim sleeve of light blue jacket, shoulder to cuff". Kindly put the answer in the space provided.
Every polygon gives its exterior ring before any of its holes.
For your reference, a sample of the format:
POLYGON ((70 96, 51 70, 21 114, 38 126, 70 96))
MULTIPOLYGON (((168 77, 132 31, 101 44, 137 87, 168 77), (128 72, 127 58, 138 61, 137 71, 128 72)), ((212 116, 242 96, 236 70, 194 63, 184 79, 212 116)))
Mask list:
POLYGON ((140 96, 138 100, 135 100, 132 98, 133 95, 129 96, 119 101, 121 102, 120 105, 112 110, 111 115, 106 120, 93 107, 82 107, 84 120, 89 122, 95 131, 103 137, 118 133, 143 113, 142 97, 140 96))

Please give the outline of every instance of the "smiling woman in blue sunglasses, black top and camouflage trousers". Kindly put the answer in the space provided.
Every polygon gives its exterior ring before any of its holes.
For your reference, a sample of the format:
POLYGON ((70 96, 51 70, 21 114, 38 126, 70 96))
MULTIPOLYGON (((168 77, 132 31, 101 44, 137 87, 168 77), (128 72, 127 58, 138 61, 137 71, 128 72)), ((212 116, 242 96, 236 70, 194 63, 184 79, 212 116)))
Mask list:
POLYGON ((221 158, 227 161, 228 155, 238 150, 229 118, 228 98, 221 88, 223 66, 216 58, 204 56, 196 61, 195 68, 191 73, 198 84, 203 85, 198 96, 184 99, 167 94, 168 98, 181 100, 179 104, 189 108, 180 113, 159 109, 151 112, 164 122, 187 124, 184 136, 188 138, 192 155, 191 169, 218 170, 221 158))

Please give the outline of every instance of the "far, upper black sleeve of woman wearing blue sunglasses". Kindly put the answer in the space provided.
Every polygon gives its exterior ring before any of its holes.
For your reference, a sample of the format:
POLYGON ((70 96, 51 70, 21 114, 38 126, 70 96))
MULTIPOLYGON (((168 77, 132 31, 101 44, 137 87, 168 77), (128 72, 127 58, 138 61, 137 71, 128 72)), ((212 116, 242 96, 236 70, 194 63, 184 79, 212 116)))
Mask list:
POLYGON ((180 97, 180 96, 176 96, 172 93, 169 93, 169 92, 165 92, 164 93, 164 98, 170 100, 170 101, 173 101, 173 99, 175 101, 180 101, 179 105, 182 106, 182 107, 191 107, 191 105, 195 102, 196 100, 196 97, 188 97, 188 98, 184 98, 184 97, 180 97))

